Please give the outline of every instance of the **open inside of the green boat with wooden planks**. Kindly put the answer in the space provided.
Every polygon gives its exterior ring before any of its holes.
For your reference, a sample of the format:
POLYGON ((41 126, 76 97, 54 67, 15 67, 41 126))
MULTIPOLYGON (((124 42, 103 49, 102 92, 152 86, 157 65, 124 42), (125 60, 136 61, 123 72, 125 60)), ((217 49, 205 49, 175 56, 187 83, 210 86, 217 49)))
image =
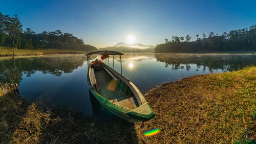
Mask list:
POLYGON ((100 68, 91 67, 91 82, 97 92, 109 102, 129 109, 139 107, 138 101, 129 86, 108 68, 104 66, 100 68))

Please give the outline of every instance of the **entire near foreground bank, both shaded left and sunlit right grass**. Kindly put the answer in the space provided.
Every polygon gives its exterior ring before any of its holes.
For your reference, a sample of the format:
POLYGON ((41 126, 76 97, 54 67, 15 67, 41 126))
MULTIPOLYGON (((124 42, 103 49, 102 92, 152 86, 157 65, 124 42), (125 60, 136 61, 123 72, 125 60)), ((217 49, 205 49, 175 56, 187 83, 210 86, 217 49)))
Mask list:
MULTIPOLYGON (((11 86, 0 88, 1 142, 214 143, 256 138, 256 67, 184 78, 145 94, 156 116, 125 123, 109 115, 86 117, 78 111, 42 110, 11 86), (143 132, 161 132, 144 137, 143 132)), ((45 109, 45 108, 44 108, 45 109)))

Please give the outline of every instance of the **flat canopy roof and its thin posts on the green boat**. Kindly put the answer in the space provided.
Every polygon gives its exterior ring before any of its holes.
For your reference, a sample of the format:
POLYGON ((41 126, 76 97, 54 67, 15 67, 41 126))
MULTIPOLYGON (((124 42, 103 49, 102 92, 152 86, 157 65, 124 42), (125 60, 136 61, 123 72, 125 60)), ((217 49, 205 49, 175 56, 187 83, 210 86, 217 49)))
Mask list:
MULTIPOLYGON (((87 66, 88 66, 88 69, 89 69, 89 59, 90 59, 90 57, 92 55, 103 55, 105 53, 107 53, 109 55, 113 55, 113 69, 115 69, 115 67, 114 67, 114 55, 118 55, 120 57, 121 75, 122 75, 122 55, 123 54, 119 53, 119 52, 116 52, 116 51, 96 51, 96 52, 87 53, 86 56, 87 56, 87 66)), ((110 65, 109 57, 108 57, 108 62, 109 62, 109 65, 110 65)))

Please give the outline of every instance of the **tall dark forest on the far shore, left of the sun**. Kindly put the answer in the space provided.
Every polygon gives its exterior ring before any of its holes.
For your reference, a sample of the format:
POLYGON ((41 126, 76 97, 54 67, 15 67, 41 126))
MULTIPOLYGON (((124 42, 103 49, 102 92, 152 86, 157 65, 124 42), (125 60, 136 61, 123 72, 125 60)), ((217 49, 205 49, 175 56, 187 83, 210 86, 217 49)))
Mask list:
POLYGON ((62 33, 60 30, 53 32, 43 31, 35 33, 30 28, 23 30, 23 25, 17 14, 12 17, 0 12, 0 47, 16 47, 18 49, 61 49, 96 51, 96 47, 85 44, 81 38, 71 33, 62 33))

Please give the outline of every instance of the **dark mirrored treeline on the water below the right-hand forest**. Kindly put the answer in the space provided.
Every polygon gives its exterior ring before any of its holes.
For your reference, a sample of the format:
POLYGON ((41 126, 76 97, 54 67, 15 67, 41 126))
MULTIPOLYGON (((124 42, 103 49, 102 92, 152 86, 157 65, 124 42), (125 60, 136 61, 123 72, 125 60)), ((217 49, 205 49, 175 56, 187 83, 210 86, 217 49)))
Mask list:
POLYGON ((208 68, 210 73, 214 70, 222 71, 239 70, 244 66, 255 64, 255 55, 205 55, 205 54, 155 54, 159 62, 164 62, 165 67, 171 66, 172 70, 191 69, 192 64, 197 65, 196 71, 208 68))

